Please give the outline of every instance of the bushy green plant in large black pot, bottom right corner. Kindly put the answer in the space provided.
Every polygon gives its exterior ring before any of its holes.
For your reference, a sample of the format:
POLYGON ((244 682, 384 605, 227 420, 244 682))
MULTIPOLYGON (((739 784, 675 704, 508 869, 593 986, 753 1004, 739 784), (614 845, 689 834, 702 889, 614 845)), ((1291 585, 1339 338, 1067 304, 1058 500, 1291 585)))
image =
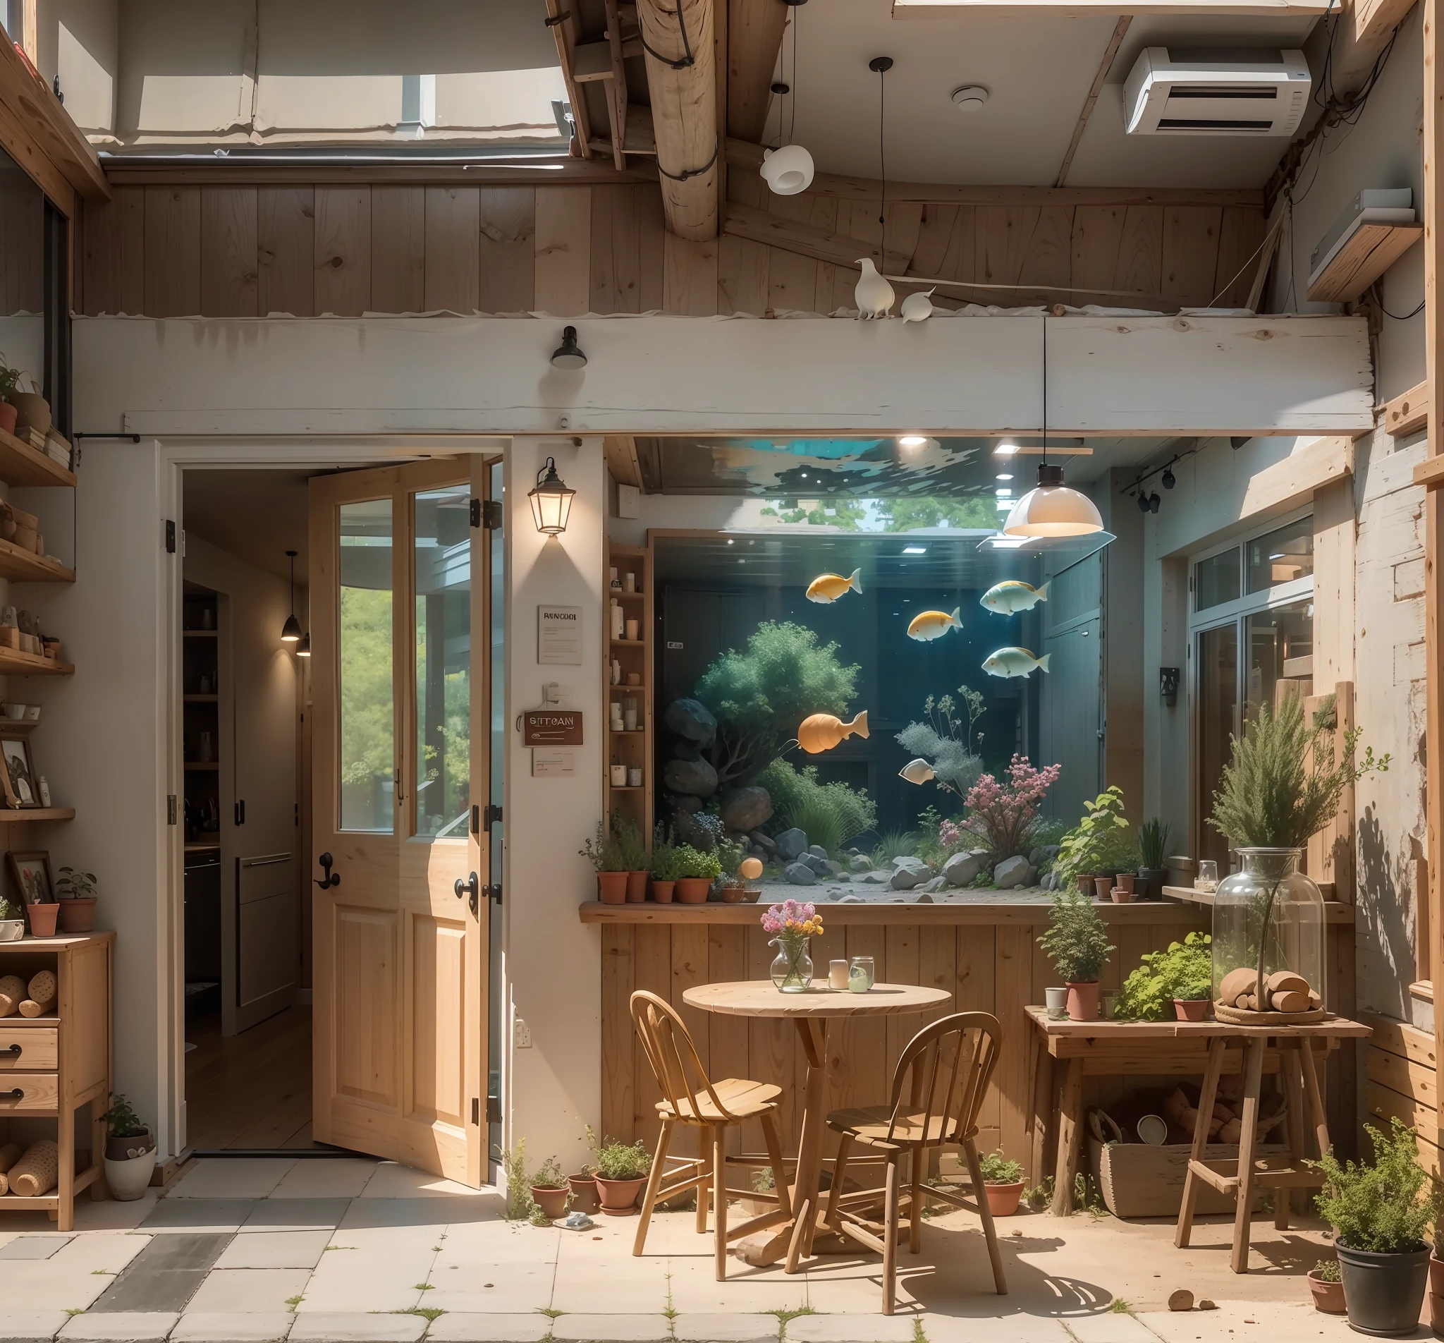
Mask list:
POLYGON ((1399 1119, 1389 1132, 1365 1125, 1373 1164, 1340 1164, 1333 1148, 1310 1162, 1324 1177, 1314 1196, 1334 1227, 1349 1324, 1367 1334, 1406 1334, 1419 1323, 1430 1277, 1424 1233, 1444 1206, 1419 1164, 1417 1135, 1399 1119))

